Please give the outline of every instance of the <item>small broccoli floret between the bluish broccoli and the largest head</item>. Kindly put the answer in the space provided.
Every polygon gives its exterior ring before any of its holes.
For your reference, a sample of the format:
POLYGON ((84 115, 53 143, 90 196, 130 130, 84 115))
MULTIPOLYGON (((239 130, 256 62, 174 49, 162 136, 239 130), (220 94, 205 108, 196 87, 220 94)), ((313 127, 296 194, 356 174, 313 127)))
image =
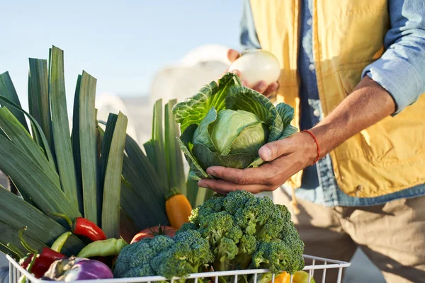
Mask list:
POLYGON ((185 277, 189 273, 203 271, 214 260, 208 240, 198 231, 184 231, 174 236, 174 245, 159 253, 151 262, 157 275, 185 277))

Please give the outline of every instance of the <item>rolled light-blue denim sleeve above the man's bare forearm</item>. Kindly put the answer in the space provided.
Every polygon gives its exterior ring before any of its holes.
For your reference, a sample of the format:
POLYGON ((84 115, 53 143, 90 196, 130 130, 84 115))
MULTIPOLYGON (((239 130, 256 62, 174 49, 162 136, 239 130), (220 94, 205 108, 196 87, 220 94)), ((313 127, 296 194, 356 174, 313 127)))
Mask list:
POLYGON ((385 52, 363 70, 385 88, 396 104, 393 115, 425 93, 425 1, 389 0, 391 28, 385 52))

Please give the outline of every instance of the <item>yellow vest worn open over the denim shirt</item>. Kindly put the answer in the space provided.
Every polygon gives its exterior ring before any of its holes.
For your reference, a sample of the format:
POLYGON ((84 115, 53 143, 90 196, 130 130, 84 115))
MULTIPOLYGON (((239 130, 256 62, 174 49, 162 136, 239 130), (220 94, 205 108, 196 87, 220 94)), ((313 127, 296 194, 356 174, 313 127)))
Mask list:
MULTIPOLYGON (((277 102, 295 108, 299 125, 297 52, 300 0, 251 0, 261 48, 281 64, 277 102)), ((384 52, 390 28, 387 0, 313 0, 313 53, 324 116, 361 80, 384 52)), ((377 197, 425 183, 425 96, 386 117, 330 153, 336 181, 353 197, 377 197)), ((300 187, 301 173, 289 181, 300 187)))

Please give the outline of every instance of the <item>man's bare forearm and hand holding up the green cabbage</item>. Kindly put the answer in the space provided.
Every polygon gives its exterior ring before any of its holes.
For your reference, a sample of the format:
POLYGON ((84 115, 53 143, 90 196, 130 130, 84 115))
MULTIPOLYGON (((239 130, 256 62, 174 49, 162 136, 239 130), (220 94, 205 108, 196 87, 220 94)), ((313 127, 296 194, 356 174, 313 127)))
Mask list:
MULTIPOLYGON (((310 129, 320 146, 319 157, 393 112, 395 102, 390 93, 365 76, 334 111, 310 129)), ((262 146, 259 156, 268 163, 242 170, 212 166, 207 173, 221 180, 202 179, 198 185, 222 194, 233 190, 253 193, 276 190, 290 176, 314 162, 317 147, 310 134, 301 132, 262 146)))

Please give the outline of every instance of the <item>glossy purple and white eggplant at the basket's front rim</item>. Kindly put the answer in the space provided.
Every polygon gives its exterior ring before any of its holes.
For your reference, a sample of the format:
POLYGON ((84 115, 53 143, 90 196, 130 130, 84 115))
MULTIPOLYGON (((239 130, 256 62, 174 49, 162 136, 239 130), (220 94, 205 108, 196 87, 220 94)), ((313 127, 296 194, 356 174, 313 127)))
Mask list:
POLYGON ((87 258, 64 258, 50 265, 42 279, 71 282, 75 280, 109 279, 113 274, 108 265, 87 258))

